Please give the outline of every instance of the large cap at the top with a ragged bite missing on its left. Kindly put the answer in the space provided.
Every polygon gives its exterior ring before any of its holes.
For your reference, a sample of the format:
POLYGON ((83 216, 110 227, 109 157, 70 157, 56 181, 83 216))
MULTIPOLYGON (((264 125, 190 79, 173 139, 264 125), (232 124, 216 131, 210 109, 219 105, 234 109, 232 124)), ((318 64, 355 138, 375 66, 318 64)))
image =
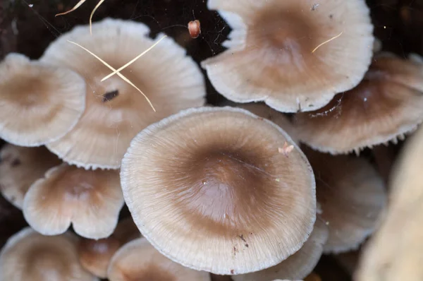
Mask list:
POLYGON ((318 2, 209 0, 233 28, 229 49, 202 62, 214 88, 235 102, 298 112, 357 85, 372 58, 369 9, 364 0, 318 2))

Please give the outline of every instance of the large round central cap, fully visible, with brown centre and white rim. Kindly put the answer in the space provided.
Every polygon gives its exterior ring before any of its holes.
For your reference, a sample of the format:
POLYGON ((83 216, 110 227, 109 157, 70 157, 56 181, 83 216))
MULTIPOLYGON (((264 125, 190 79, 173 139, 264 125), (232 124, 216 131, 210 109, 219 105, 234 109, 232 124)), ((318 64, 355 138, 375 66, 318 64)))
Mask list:
POLYGON ((215 274, 280 263, 307 240, 316 215, 301 150, 245 109, 188 109, 147 127, 125 154, 121 184, 153 246, 215 274), (293 150, 283 155, 287 142, 293 150))

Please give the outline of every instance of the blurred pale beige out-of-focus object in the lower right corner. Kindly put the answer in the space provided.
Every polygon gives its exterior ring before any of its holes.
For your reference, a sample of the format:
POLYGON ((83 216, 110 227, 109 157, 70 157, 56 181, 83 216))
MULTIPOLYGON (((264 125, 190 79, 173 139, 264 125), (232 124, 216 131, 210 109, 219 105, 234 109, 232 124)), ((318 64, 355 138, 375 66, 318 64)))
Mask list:
POLYGON ((419 128, 393 173, 389 208, 364 249, 355 280, 423 280, 422 155, 423 128, 419 128))

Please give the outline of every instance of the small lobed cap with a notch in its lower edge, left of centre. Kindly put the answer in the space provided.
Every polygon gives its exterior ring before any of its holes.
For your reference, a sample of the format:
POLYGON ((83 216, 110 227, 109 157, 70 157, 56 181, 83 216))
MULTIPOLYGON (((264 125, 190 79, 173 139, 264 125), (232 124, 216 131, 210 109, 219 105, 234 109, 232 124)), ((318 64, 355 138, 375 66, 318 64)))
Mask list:
POLYGON ((23 201, 28 224, 44 235, 73 229, 82 237, 109 237, 118 223, 123 195, 117 171, 90 171, 66 163, 35 181, 23 201))

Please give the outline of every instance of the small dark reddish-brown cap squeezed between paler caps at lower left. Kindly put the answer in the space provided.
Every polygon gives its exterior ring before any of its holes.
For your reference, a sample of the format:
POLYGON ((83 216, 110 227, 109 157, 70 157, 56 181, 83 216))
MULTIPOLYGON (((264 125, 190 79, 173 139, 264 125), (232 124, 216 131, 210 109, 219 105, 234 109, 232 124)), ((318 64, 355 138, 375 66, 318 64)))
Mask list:
POLYGON ((118 223, 113 234, 104 239, 81 239, 78 246, 80 263, 90 273, 106 278, 107 268, 114 253, 128 241, 141 236, 140 231, 128 218, 118 223))

